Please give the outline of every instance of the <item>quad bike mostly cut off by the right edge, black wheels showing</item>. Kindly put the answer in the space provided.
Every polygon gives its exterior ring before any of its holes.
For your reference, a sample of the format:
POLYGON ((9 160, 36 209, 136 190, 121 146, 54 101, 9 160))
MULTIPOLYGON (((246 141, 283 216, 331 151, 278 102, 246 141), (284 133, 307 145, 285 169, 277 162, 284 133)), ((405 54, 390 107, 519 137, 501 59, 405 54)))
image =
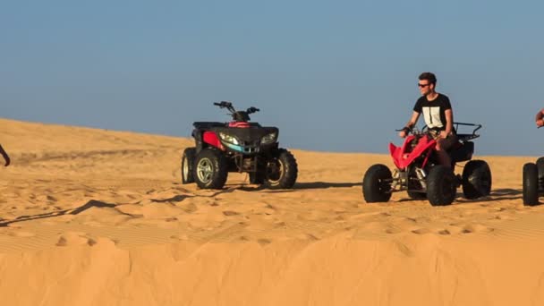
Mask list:
POLYGON ((544 193, 544 157, 523 165, 523 205, 538 205, 544 193))

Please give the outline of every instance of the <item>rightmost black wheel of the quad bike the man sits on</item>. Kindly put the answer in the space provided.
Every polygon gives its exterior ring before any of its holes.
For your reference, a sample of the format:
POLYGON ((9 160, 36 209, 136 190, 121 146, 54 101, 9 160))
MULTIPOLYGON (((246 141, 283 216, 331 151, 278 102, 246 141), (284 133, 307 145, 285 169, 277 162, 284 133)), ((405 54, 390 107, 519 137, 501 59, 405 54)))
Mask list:
POLYGON ((471 160, 463 169, 463 194, 466 199, 488 196, 491 192, 491 171, 483 160, 471 160))

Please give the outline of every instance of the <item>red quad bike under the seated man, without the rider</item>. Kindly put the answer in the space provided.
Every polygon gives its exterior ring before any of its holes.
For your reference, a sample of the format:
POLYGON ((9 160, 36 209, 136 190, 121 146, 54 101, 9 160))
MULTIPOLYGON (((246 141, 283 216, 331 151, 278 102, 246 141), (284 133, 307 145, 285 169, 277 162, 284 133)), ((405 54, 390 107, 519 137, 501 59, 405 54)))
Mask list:
POLYGON ((387 202, 394 191, 408 191, 414 200, 427 198, 430 205, 449 205, 455 200, 457 187, 463 186, 467 199, 477 199, 489 195, 491 191, 491 171, 483 160, 471 160, 474 143, 480 137, 476 131, 481 124, 454 123, 455 131, 459 126, 473 127, 472 133, 457 134, 458 141, 448 150, 452 167, 442 166, 435 151, 437 141, 431 136, 432 131, 424 127, 421 132, 412 130, 402 147, 389 144, 389 151, 396 169, 391 174, 385 165, 370 166, 362 179, 362 195, 368 203, 387 202), (463 175, 455 175, 455 164, 469 161, 463 168, 463 175))

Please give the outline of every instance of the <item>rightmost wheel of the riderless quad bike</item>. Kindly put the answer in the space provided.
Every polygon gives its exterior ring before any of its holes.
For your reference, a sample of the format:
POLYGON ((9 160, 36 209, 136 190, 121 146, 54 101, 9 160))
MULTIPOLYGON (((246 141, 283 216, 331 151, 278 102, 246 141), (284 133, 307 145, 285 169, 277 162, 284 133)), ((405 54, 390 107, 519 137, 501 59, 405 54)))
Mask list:
MULTIPOLYGON (((270 189, 291 189, 298 175, 298 166, 293 154, 286 149, 279 149, 277 153, 267 161, 265 168, 264 185, 270 189)), ((251 179, 251 176, 250 176, 251 179)), ((255 176, 255 182, 261 178, 255 176)))

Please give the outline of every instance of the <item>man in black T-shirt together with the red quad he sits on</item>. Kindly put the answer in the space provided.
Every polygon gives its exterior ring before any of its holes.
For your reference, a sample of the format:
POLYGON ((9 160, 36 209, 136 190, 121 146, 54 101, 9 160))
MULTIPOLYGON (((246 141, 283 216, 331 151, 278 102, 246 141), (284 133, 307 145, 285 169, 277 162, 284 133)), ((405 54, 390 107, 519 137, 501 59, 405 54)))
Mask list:
POLYGON ((427 199, 433 206, 449 205, 456 197, 458 186, 463 186, 467 199, 489 195, 491 172, 483 160, 472 160, 476 134, 481 124, 454 123, 451 105, 446 96, 434 89, 436 77, 430 72, 420 76, 423 97, 413 109, 411 121, 399 136, 403 145, 389 144, 395 164, 393 172, 386 165, 370 166, 362 179, 362 195, 367 203, 387 202, 395 191, 407 191, 414 200, 427 199), (425 126, 415 127, 423 113, 425 126), (472 127, 470 133, 457 133, 459 127, 472 127), (408 135, 410 134, 410 135, 408 135), (463 174, 455 174, 455 165, 467 162, 463 174))

